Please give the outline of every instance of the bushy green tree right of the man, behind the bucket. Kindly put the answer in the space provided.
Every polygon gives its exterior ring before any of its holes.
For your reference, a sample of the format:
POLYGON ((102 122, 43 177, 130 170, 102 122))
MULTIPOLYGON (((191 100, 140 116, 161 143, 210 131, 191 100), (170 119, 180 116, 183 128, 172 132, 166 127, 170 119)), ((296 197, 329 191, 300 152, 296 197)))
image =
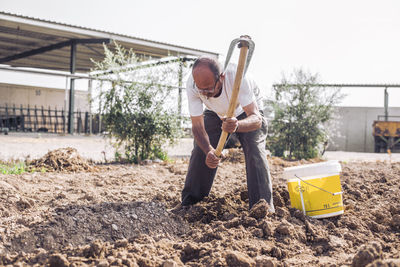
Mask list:
POLYGON ((318 86, 317 74, 301 69, 283 75, 273 88, 274 117, 268 148, 273 155, 308 159, 321 155, 333 130, 335 106, 342 100, 340 88, 318 86))

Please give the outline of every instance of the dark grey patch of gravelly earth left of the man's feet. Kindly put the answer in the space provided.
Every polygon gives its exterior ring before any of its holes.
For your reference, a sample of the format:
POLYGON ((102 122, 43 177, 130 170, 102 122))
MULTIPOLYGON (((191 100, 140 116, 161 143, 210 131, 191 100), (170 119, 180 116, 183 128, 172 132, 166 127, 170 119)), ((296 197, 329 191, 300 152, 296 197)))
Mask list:
POLYGON ((59 250, 94 240, 111 242, 146 234, 173 239, 188 231, 179 217, 171 216, 156 202, 101 203, 55 209, 48 221, 30 227, 11 241, 11 250, 32 252, 37 248, 59 250))

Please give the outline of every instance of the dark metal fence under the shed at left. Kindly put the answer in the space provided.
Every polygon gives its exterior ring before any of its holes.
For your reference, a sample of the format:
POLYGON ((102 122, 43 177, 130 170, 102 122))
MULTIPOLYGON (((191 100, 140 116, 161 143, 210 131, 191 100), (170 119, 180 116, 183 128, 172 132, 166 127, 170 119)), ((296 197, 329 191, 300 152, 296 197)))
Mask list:
MULTIPOLYGON (((103 130, 98 114, 74 112, 74 129, 78 134, 97 134, 103 130), (100 129, 100 127, 102 129, 100 129)), ((68 132, 68 112, 42 107, 0 106, 0 130, 19 132, 68 132)))

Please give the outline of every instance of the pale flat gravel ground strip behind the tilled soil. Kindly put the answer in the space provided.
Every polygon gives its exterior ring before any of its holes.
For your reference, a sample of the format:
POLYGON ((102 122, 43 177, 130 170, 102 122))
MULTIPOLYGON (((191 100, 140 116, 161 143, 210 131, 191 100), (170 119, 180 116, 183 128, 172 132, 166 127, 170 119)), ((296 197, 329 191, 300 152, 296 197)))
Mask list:
MULTIPOLYGON (((60 136, 43 133, 9 133, 0 135, 0 160, 23 160, 40 158, 48 151, 62 148, 76 148, 79 154, 95 162, 111 161, 115 149, 102 136, 60 136)), ((189 157, 193 147, 193 139, 183 138, 175 146, 167 147, 170 157, 189 157)), ((400 161, 400 154, 357 153, 343 151, 327 151, 324 158, 340 161, 400 161)))

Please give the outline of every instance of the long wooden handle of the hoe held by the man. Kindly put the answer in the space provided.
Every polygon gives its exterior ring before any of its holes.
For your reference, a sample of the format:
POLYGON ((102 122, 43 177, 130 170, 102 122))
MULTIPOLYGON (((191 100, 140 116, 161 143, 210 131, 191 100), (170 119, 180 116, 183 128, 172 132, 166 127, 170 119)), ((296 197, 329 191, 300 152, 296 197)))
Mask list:
MULTIPOLYGON (((228 118, 232 117, 235 112, 235 107, 236 107, 237 98, 239 95, 240 84, 242 83, 243 72, 244 72, 244 67, 245 67, 245 63, 246 63, 246 57, 247 57, 248 50, 249 50, 249 47, 246 46, 246 44, 241 43, 239 63, 238 63, 237 70, 236 70, 235 82, 233 84, 232 97, 229 101, 228 113, 226 114, 226 117, 228 117, 228 118)), ((217 155, 218 157, 221 155, 222 150, 224 149, 225 141, 226 141, 227 137, 228 137, 228 133, 225 131, 222 131, 221 136, 218 141, 217 148, 215 149, 215 155, 217 155)))

